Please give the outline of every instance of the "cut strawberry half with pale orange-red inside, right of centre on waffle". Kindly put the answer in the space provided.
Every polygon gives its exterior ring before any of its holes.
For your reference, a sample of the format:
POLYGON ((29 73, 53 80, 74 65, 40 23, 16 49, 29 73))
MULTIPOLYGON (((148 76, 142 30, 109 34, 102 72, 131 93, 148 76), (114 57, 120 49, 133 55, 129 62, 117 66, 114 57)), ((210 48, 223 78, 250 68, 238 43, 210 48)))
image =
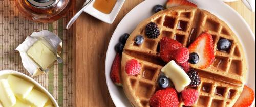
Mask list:
POLYGON ((188 49, 199 56, 199 62, 194 67, 204 69, 214 63, 214 41, 208 31, 201 33, 188 49))

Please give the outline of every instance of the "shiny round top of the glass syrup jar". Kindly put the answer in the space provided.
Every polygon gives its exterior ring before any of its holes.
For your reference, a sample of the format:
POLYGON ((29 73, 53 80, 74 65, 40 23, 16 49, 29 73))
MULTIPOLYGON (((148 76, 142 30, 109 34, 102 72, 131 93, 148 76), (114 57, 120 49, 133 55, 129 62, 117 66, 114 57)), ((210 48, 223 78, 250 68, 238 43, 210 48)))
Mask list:
POLYGON ((54 5, 54 3, 57 2, 57 0, 27 0, 27 1, 31 5, 37 8, 47 8, 54 5))

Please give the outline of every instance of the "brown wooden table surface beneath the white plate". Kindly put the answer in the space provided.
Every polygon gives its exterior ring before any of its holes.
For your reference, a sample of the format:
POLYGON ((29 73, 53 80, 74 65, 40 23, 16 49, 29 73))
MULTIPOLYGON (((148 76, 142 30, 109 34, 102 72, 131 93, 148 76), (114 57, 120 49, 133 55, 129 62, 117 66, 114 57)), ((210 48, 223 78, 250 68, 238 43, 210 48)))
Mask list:
MULTIPOLYGON (((85 0, 77 0, 74 13, 81 9, 85 0)), ((105 56, 110 38, 121 19, 142 0, 125 1, 113 24, 106 24, 83 13, 74 25, 75 43, 75 104, 80 106, 115 106, 106 87, 105 56)), ((255 13, 241 1, 227 3, 245 18, 255 33, 255 13)))

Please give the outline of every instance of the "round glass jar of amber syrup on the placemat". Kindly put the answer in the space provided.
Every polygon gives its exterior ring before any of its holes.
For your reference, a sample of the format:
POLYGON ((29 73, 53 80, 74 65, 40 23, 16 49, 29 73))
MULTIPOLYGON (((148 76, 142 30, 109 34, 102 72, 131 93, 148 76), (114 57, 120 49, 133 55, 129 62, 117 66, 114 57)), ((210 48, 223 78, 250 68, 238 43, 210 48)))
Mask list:
POLYGON ((30 20, 47 23, 61 18, 73 0, 14 0, 19 12, 30 20))

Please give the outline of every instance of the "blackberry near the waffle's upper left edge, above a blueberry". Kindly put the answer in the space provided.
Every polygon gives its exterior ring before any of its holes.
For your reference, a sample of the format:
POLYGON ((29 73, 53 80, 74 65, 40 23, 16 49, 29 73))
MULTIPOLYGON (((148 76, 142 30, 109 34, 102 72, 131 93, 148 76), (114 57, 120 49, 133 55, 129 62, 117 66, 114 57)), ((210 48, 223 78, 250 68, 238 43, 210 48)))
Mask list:
POLYGON ((157 23, 155 22, 150 22, 146 25, 146 36, 148 38, 157 38, 160 35, 160 31, 158 28, 157 23))

